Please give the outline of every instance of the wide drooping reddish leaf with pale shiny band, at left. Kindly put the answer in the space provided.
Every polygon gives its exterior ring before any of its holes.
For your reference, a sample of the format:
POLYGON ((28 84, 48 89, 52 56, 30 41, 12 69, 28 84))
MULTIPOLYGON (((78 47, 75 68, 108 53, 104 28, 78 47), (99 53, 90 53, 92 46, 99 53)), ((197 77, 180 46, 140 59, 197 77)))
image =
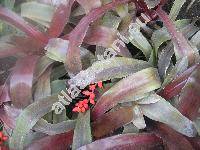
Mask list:
POLYGON ((17 108, 24 108, 32 102, 33 73, 38 56, 27 56, 17 61, 10 77, 10 96, 17 108))

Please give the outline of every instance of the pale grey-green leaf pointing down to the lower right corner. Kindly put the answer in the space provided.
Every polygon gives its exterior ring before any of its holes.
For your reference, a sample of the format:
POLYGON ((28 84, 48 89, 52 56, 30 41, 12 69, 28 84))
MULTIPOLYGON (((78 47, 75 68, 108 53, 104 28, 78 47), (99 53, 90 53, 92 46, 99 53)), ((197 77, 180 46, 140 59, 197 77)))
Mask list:
POLYGON ((140 105, 145 116, 152 120, 167 124, 174 130, 188 136, 194 137, 197 132, 191 120, 183 116, 176 108, 162 97, 155 95, 155 99, 160 99, 157 103, 140 105))

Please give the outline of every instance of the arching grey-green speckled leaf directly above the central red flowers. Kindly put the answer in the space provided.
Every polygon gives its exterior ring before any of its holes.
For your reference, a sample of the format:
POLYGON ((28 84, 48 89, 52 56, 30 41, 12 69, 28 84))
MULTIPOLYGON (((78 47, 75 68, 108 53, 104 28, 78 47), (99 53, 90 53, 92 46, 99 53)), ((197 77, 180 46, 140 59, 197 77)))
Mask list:
POLYGON ((93 63, 87 70, 73 77, 69 83, 84 87, 98 81, 122 78, 147 67, 150 65, 142 60, 115 57, 93 63))

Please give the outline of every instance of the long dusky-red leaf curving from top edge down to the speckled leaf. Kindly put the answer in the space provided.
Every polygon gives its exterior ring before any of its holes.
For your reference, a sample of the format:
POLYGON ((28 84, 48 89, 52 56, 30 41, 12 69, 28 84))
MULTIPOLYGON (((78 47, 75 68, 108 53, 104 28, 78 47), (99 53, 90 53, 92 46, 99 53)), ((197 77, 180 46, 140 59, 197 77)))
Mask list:
POLYGON ((88 13, 88 15, 81 19, 79 24, 69 35, 69 49, 66 58, 66 67, 69 72, 77 74, 82 70, 79 46, 83 42, 90 23, 100 18, 106 11, 115 8, 119 4, 124 4, 129 1, 130 0, 115 0, 102 7, 93 9, 90 13, 88 13))

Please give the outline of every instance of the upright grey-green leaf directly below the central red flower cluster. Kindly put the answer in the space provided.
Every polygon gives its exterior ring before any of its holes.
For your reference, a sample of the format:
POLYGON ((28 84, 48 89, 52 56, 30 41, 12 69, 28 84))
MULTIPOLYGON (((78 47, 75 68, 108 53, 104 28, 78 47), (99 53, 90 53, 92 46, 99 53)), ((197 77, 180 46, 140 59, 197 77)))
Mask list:
POLYGON ((74 129, 72 150, 92 142, 90 127, 90 110, 86 113, 79 113, 76 126, 74 129))

